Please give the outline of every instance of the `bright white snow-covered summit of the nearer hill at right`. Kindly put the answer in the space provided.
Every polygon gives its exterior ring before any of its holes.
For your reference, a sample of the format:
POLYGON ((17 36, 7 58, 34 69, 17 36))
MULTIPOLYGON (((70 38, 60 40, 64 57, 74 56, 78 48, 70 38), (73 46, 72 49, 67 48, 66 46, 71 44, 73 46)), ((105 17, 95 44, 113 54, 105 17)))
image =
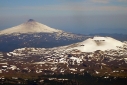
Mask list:
POLYGON ((117 50, 119 47, 122 47, 123 43, 111 37, 93 37, 88 38, 83 42, 76 43, 71 45, 71 49, 78 49, 82 52, 93 52, 96 50, 117 50), (72 47, 74 46, 74 47, 72 47))

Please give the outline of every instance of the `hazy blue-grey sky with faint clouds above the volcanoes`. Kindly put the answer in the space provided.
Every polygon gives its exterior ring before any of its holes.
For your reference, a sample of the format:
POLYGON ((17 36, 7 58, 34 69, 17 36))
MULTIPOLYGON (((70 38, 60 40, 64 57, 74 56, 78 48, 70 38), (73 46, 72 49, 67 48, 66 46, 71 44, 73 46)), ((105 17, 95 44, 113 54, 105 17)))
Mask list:
POLYGON ((0 0, 0 30, 28 19, 74 33, 127 33, 127 0, 0 0))

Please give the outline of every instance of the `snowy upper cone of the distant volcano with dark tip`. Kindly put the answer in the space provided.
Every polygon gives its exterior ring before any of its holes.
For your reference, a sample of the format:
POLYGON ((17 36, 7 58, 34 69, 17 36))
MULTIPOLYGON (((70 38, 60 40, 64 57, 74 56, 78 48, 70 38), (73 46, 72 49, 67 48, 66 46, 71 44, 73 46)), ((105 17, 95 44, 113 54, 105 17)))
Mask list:
POLYGON ((29 19, 26 23, 0 31, 0 34, 39 33, 39 32, 54 33, 54 32, 62 32, 62 30, 54 29, 39 22, 36 22, 33 19, 29 19))

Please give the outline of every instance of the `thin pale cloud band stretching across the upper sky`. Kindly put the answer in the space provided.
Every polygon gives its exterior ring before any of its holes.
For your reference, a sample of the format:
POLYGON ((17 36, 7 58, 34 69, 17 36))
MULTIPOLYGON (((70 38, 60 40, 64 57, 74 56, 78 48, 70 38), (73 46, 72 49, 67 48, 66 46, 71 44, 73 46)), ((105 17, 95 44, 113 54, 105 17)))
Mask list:
MULTIPOLYGON (((24 6, 17 8, 4 8, 3 10, 15 11, 15 13, 33 13, 37 15, 72 15, 72 14, 127 14, 126 6, 100 6, 85 4, 24 6)), ((3 12, 5 15, 5 13, 3 12)), ((7 14, 7 13, 6 13, 7 14)), ((31 14, 30 14, 31 15, 31 14)))

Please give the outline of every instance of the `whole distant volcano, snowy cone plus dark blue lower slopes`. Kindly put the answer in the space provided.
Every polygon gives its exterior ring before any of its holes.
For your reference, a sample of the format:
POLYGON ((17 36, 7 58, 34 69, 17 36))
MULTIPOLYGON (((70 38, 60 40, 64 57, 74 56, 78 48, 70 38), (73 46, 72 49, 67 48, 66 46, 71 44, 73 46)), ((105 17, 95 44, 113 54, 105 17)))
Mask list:
POLYGON ((9 52, 23 47, 51 48, 87 38, 88 36, 54 29, 29 19, 26 23, 0 31, 0 51, 9 52))

